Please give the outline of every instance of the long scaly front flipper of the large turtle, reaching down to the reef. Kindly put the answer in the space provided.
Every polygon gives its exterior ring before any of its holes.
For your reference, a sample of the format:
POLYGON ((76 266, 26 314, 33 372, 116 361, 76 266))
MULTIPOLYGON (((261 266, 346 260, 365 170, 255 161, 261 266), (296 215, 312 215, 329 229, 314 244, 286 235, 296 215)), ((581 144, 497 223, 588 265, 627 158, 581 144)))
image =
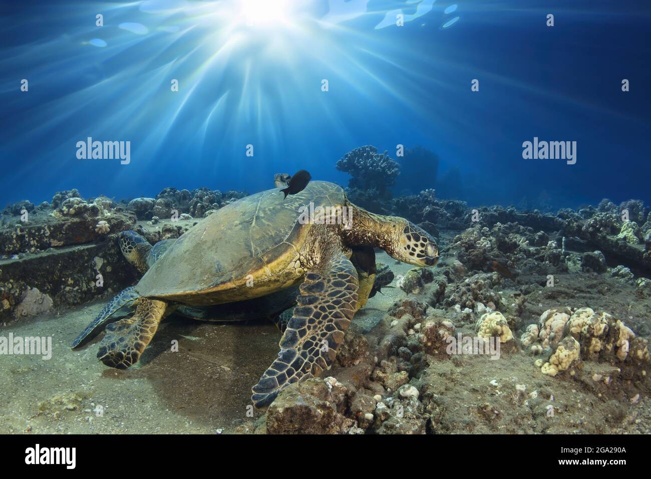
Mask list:
POLYGON ((253 386, 253 404, 266 407, 284 386, 328 370, 357 306, 357 271, 336 253, 305 274, 298 306, 280 342, 278 358, 253 386))

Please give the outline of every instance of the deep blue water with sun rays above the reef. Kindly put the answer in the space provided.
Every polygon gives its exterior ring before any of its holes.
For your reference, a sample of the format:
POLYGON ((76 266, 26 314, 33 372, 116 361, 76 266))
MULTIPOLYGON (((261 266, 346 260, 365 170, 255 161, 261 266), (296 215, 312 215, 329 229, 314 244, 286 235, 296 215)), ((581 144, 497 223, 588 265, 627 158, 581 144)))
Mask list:
POLYGON ((256 192, 298 169, 346 184, 335 163, 368 144, 399 162, 396 145, 426 147, 437 179, 409 165, 401 190, 474 205, 651 201, 648 0, 245 4, 3 3, 1 206, 256 192), (130 141, 130 163, 77 159, 88 137, 130 141), (576 141, 576 164, 523 159, 534 137, 576 141))

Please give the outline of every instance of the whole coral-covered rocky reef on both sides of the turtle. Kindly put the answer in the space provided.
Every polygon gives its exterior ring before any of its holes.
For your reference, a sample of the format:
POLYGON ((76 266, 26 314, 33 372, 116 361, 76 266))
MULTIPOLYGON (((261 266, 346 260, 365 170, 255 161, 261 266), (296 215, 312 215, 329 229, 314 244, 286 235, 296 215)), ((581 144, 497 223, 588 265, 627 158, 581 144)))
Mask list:
MULTIPOLYGON (((353 321, 324 377, 284 388, 234 432, 650 432, 640 409, 650 405, 649 207, 604 199, 549 214, 471 208, 434 190, 391 197, 392 161, 363 147, 338 167, 355 179, 348 192, 361 206, 372 199, 370 209, 434 235, 439 265, 396 274, 402 297, 364 334, 353 321)), ((1 321, 132 284, 120 231, 175 238, 244 195, 165 188, 116 202, 70 190, 8 206, 1 321)))

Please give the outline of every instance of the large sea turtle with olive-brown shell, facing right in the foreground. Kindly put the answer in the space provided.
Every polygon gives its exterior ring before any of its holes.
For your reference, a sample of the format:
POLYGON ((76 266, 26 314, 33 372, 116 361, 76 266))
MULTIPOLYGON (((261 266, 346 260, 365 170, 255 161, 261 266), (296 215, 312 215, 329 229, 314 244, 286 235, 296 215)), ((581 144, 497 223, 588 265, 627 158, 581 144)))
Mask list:
MULTIPOLYGON (((350 261, 357 246, 381 248, 419 267, 438 260, 428 233, 404 218, 353 205, 337 184, 312 181, 284 201, 279 188, 243 197, 192 227, 137 285, 111 301, 99 323, 127 302, 135 312, 107 325, 98 358, 113 368, 129 368, 161 319, 179 306, 252 300, 299 285, 281 351, 253 386, 253 404, 265 407, 284 386, 330 368, 360 301, 350 261)), ((370 289, 361 294, 368 297, 370 289)))

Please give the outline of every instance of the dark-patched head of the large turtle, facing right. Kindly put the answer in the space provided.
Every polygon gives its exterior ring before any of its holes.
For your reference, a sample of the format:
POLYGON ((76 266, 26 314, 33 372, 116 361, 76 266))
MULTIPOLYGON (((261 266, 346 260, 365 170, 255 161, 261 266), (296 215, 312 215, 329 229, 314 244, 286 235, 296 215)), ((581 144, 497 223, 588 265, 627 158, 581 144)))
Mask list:
POLYGON ((405 220, 392 218, 391 234, 384 250, 398 261, 428 267, 439 261, 439 247, 432 236, 421 227, 405 220))

